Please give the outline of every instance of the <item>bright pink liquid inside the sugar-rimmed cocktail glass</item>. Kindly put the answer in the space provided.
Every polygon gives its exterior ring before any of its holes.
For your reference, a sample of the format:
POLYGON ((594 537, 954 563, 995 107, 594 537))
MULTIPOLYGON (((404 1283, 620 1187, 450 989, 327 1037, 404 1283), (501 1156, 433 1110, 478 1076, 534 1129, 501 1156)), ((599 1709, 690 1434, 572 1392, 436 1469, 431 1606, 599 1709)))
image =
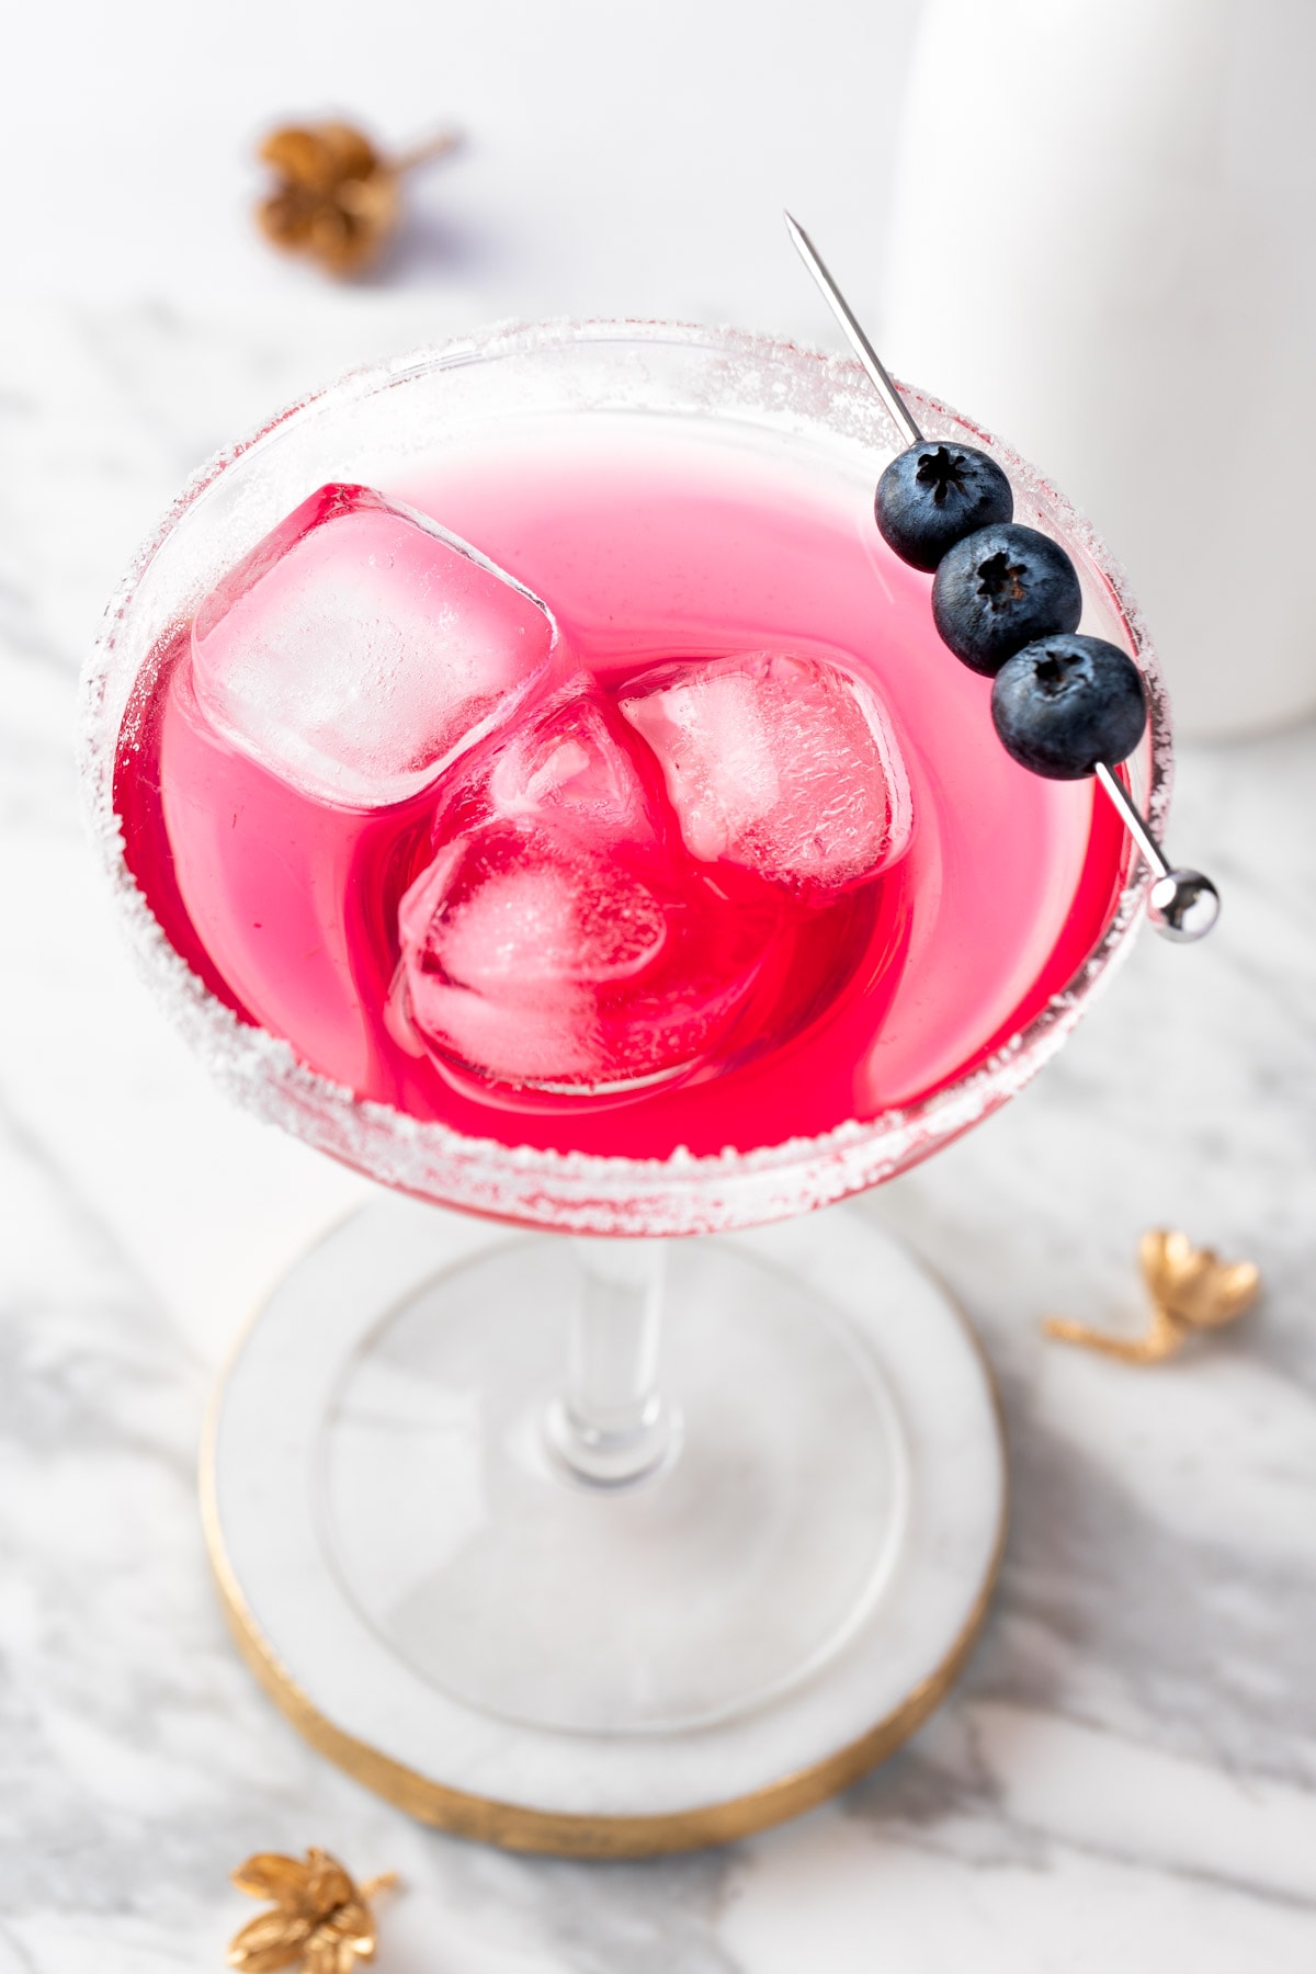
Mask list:
MULTIPOLYGON (((523 612, 499 697, 418 732, 420 762, 458 752, 416 792, 349 805, 314 764, 292 786, 203 709, 189 626, 166 642, 116 762, 138 884, 241 1019, 472 1137, 667 1157, 910 1105, 1075 973, 1123 835, 1091 784, 1000 750, 990 683, 941 645, 868 486, 803 446, 766 464, 633 415, 588 426, 527 420, 381 490, 560 632, 529 649, 523 612), (718 746, 750 717, 777 736, 766 833, 673 797, 663 734, 704 701, 718 746)), ((728 752, 722 784, 740 772, 728 752)))

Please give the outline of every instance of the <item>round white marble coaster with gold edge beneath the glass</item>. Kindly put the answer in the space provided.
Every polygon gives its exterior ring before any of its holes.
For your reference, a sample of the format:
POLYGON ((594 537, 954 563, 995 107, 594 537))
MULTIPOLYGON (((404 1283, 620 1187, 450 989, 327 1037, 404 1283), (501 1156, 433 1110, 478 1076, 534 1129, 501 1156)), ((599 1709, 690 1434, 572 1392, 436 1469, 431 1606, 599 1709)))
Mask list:
MULTIPOLYGON (((201 1500, 237 1642, 314 1747, 460 1836, 637 1858, 793 1816, 925 1719, 987 1613, 1004 1451, 955 1305, 833 1208, 673 1244, 681 1437, 659 1415, 633 1484, 582 1479, 545 1423, 578 1265, 377 1200, 260 1309, 201 1500)), ((625 1368, 570 1390, 598 1407, 625 1368)))

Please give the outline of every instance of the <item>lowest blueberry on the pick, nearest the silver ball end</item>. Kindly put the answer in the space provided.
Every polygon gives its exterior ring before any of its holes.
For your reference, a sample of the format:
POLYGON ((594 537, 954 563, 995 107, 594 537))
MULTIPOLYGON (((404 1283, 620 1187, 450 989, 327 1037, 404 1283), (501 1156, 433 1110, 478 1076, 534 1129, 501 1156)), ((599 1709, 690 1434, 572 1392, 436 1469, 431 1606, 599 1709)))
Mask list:
POLYGON ((1125 760, 1142 738, 1142 677, 1105 638, 1040 638, 996 673, 992 721, 1022 768, 1077 782, 1099 760, 1125 760))

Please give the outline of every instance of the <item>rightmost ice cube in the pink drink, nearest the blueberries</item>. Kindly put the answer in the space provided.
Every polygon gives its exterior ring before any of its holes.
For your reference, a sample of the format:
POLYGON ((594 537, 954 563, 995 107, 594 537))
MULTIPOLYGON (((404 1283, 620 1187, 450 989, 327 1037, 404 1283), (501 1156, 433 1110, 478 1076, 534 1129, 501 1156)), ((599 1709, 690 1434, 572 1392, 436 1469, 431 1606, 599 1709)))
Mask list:
POLYGON ((825 898, 892 865, 914 811, 876 695, 793 651, 663 667, 621 699, 663 768, 687 849, 825 898))

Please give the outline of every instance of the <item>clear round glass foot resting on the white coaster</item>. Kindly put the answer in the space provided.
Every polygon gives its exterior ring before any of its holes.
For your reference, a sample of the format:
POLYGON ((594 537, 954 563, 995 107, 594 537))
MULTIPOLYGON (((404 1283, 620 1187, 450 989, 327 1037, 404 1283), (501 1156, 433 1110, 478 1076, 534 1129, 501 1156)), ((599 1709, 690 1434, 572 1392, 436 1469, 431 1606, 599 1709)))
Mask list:
POLYGON ((655 1457, 554 1457, 574 1246, 495 1246, 347 1364, 320 1455, 343 1585, 424 1680, 537 1727, 702 1727, 807 1678, 882 1591, 906 1459, 839 1311, 754 1253, 669 1259, 655 1457), (667 1425, 667 1431, 661 1427, 667 1425))

